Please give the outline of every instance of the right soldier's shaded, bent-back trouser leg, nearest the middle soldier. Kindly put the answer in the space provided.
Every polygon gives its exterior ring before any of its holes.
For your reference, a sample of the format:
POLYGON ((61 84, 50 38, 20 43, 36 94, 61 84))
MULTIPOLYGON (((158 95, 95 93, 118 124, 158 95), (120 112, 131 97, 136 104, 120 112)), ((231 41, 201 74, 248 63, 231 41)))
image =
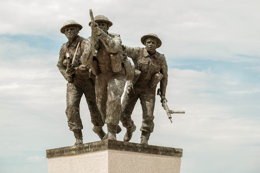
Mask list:
POLYGON ((131 128, 134 125, 134 121, 131 119, 131 114, 138 98, 138 94, 135 94, 133 91, 130 91, 129 94, 125 92, 125 96, 122 101, 120 121, 126 128, 131 128))

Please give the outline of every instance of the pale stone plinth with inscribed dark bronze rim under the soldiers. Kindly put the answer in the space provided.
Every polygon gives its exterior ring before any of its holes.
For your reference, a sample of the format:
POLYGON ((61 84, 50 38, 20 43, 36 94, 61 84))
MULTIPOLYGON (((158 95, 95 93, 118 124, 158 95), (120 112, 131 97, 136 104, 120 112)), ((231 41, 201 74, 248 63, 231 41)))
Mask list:
POLYGON ((179 173, 182 149, 102 140, 46 150, 49 173, 179 173))

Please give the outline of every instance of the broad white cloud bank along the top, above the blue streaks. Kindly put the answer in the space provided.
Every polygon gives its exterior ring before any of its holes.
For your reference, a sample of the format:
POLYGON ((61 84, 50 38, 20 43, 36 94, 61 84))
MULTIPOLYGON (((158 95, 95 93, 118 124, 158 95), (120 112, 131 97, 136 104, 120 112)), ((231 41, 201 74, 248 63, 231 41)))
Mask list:
POLYGON ((88 9, 104 14, 120 33, 123 44, 142 46, 140 38, 156 33, 158 49, 168 58, 199 58, 231 62, 258 62, 259 1, 7 1, 0 7, 1 34, 43 35, 61 40, 66 20, 76 20, 90 36, 88 9), (167 5, 166 5, 167 4, 167 5), (8 7, 8 8, 7 8, 8 7), (27 10, 24 10, 27 9, 27 10), (111 10, 113 9, 113 10, 111 10))

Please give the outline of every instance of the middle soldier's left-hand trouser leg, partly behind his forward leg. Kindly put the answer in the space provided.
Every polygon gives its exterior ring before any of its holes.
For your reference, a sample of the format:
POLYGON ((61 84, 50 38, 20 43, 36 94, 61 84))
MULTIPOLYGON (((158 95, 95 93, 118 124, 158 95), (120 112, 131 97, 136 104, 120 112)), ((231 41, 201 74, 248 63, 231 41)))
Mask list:
POLYGON ((107 109, 107 82, 106 76, 99 74, 96 76, 95 90, 96 90, 96 105, 101 113, 102 120, 105 123, 106 109, 107 109))

